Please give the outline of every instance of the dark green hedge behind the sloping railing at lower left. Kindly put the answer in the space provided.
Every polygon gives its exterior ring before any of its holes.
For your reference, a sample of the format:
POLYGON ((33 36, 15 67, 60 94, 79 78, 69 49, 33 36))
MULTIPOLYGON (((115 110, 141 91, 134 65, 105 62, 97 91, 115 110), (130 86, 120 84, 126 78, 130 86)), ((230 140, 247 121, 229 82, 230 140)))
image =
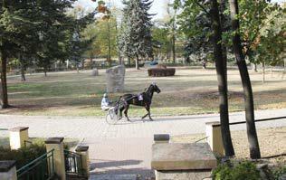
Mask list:
POLYGON ((46 148, 43 144, 34 144, 30 147, 22 147, 18 150, 0 147, 0 161, 15 160, 16 168, 20 168, 45 153, 46 148))

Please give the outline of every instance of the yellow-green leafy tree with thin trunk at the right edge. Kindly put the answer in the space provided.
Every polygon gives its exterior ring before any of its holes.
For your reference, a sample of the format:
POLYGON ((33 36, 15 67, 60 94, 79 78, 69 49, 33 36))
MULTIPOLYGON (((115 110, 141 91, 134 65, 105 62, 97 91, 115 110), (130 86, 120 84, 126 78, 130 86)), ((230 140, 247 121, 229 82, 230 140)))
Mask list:
POLYGON ((272 12, 263 20, 256 42, 250 47, 252 62, 262 64, 262 82, 265 81, 265 65, 281 65, 285 47, 286 16, 278 5, 271 6, 272 12))

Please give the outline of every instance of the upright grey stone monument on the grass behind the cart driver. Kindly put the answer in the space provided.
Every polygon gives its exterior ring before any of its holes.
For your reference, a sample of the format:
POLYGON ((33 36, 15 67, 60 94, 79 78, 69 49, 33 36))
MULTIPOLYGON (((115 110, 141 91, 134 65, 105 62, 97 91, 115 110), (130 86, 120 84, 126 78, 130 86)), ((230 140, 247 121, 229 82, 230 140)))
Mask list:
POLYGON ((125 67, 115 66, 106 70, 107 92, 123 92, 125 67))

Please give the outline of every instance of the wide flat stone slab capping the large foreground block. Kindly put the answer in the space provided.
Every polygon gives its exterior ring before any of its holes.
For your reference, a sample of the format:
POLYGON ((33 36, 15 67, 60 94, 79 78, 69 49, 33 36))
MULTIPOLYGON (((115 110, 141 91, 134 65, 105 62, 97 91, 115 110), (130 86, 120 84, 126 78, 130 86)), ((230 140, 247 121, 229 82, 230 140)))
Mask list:
POLYGON ((159 143, 152 146, 151 167, 156 170, 211 170, 216 158, 207 143, 159 143))

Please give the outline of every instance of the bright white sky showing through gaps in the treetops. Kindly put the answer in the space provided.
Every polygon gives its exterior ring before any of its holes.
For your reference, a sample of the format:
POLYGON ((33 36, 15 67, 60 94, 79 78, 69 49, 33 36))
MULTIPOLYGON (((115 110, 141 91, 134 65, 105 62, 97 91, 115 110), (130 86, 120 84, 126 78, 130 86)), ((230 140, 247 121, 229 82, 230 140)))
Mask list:
MULTIPOLYGON (((111 5, 116 5, 120 8, 123 7, 121 0, 104 0, 105 2, 110 2, 111 5)), ((154 19, 161 19, 164 14, 166 14, 166 4, 169 0, 154 0, 153 5, 150 9, 150 14, 156 14, 154 19)), ((172 1, 172 0, 171 0, 172 1)), ((272 0, 273 3, 283 3, 286 0, 272 0)), ((91 0, 78 0, 77 5, 82 5, 87 9, 94 9, 97 6, 97 3, 93 3, 91 0)))

